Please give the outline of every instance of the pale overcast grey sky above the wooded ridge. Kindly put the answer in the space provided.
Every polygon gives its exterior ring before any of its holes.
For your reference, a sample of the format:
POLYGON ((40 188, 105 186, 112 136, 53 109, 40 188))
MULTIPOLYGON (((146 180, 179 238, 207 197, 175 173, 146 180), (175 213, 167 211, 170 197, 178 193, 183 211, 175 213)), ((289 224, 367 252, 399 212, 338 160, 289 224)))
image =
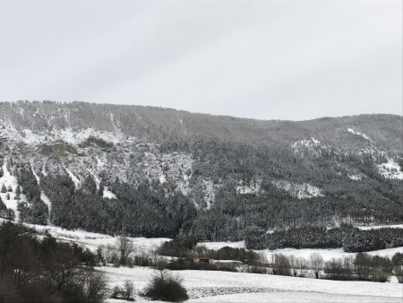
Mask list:
POLYGON ((402 114, 402 2, 0 0, 0 100, 402 114))

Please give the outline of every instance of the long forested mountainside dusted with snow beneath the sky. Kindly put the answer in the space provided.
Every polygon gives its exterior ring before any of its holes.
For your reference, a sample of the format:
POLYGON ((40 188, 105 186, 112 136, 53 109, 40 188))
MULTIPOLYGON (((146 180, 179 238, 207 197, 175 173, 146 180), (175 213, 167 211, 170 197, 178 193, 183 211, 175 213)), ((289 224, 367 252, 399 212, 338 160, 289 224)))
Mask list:
POLYGON ((402 167, 399 116, 258 121, 0 103, 0 214, 31 223, 210 240, 241 240, 250 227, 401 223, 402 167))

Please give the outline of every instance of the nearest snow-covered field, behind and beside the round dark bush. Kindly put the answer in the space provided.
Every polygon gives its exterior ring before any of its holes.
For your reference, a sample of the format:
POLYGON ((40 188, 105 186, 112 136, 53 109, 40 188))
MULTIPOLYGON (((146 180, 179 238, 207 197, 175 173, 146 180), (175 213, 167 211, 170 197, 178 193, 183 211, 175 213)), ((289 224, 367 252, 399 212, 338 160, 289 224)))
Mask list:
MULTIPOLYGON (((146 267, 99 267, 109 286, 133 281, 141 291, 154 270, 146 267)), ((399 283, 328 281, 257 273, 175 271, 184 280, 190 302, 401 302, 399 283)), ((141 297, 137 300, 143 300, 141 297)))

